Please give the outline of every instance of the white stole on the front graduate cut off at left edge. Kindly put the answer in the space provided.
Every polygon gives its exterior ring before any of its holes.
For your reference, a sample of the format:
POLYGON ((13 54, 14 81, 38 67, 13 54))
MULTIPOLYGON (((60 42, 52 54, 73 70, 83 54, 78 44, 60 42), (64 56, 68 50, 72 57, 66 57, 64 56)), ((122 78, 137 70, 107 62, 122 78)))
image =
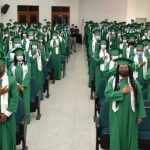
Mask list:
MULTIPOLYGON (((9 88, 8 75, 5 73, 1 79, 2 79, 2 88, 4 88, 5 86, 9 88)), ((1 113, 5 113, 7 109, 8 109, 8 93, 5 93, 4 95, 1 95, 1 113)))

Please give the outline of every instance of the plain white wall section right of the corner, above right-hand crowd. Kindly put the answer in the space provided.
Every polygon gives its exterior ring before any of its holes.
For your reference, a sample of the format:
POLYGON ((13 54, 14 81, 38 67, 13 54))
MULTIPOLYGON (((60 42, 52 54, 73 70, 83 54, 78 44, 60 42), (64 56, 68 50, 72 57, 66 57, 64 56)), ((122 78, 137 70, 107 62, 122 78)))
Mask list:
POLYGON ((127 0, 80 0, 80 26, 83 22, 93 20, 126 21, 127 0))

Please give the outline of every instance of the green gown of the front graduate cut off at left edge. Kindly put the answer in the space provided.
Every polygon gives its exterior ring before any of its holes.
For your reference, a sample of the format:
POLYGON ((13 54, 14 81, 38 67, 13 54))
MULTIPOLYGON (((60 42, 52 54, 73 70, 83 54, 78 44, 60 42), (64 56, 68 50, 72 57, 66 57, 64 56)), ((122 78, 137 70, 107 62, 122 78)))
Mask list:
POLYGON ((19 92, 17 83, 13 77, 8 76, 8 82, 9 92, 7 110, 12 114, 9 116, 6 122, 0 122, 0 150, 16 150, 15 112, 17 111, 18 107, 19 92))

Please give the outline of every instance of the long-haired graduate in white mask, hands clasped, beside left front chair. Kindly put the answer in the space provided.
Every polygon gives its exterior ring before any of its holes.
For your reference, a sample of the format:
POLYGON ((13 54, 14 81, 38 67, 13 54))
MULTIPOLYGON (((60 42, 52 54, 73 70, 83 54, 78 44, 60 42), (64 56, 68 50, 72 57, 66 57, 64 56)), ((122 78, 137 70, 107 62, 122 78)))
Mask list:
POLYGON ((13 75, 17 81, 19 96, 24 100, 27 123, 30 123, 30 78, 31 66, 25 61, 24 49, 16 48, 14 62, 9 68, 10 75, 13 75))

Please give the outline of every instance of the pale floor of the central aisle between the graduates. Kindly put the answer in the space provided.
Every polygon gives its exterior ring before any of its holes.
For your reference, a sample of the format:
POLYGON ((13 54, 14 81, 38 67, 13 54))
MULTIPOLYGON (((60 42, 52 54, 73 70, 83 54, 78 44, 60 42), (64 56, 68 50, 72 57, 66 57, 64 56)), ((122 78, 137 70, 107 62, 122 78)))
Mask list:
POLYGON ((78 45, 67 64, 67 76, 50 85, 50 99, 42 102, 42 118, 32 114, 29 150, 95 150, 93 101, 89 99, 84 46, 78 45))

